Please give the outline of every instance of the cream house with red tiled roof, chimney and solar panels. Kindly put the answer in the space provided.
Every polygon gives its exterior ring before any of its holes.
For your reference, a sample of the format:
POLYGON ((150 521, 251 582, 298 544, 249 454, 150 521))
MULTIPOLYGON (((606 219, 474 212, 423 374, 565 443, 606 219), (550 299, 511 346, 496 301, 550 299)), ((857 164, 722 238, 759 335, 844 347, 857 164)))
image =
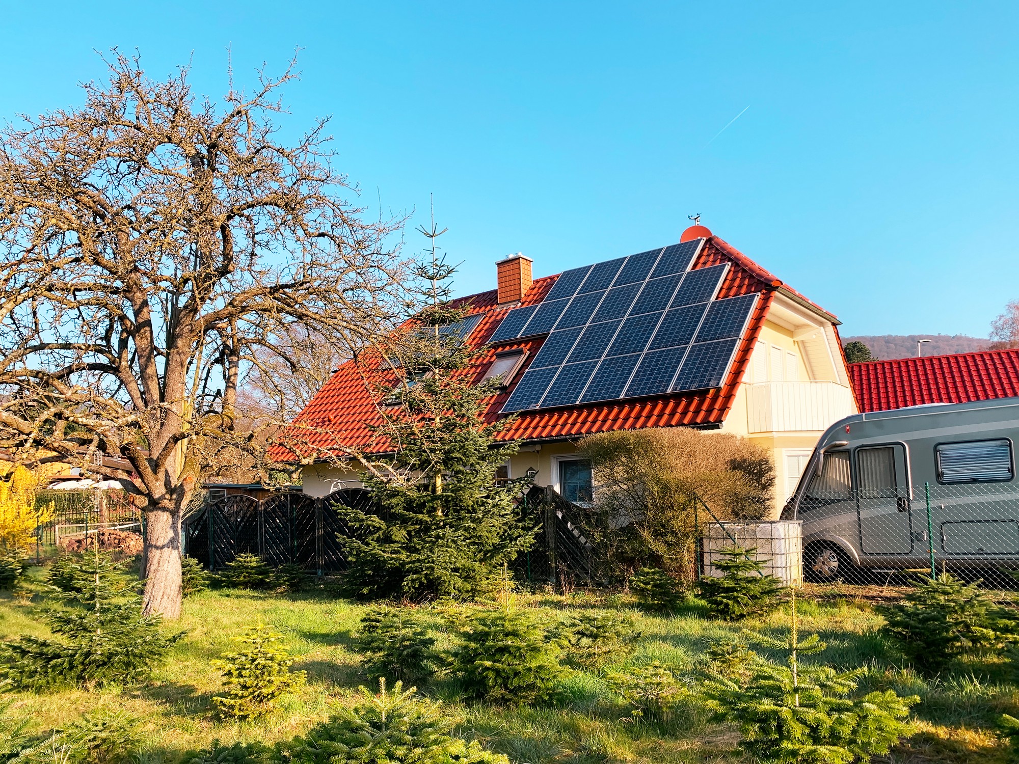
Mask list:
MULTIPOLYGON (((487 416, 517 415, 502 436, 520 452, 500 477, 530 471, 582 502, 592 487, 580 438, 695 427, 773 454, 777 516, 821 432, 857 411, 838 319, 704 226, 678 244, 537 279, 518 254, 495 275, 497 288, 459 302, 471 311, 465 341, 486 347, 476 378, 501 380, 487 416)), ((370 442, 381 404, 372 371, 344 364, 294 421, 305 493, 359 485, 322 455, 370 442)), ((293 458, 281 446, 271 455, 293 458)))

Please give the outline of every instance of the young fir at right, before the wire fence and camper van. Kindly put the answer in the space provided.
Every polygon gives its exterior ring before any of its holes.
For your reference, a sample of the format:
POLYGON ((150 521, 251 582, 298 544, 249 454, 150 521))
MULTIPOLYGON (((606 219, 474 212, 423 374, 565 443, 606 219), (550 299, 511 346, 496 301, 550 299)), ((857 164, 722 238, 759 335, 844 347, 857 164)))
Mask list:
POLYGON ((884 616, 880 633, 928 674, 963 653, 1001 645, 1015 625, 978 585, 952 574, 916 581, 902 602, 874 608, 884 616))

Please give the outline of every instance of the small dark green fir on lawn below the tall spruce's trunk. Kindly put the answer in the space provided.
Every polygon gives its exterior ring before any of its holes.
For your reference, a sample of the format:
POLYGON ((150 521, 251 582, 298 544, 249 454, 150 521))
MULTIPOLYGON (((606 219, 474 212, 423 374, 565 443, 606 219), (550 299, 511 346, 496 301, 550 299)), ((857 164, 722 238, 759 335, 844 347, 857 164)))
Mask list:
POLYGON ((354 647, 365 654, 373 677, 427 679, 435 673, 435 640, 409 608, 373 607, 361 619, 354 647))

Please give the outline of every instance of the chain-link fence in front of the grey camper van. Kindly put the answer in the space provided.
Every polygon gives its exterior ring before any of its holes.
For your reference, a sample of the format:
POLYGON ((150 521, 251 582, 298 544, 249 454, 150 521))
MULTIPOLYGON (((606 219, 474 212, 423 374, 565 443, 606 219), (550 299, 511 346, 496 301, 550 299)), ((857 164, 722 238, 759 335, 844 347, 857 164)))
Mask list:
MULTIPOLYGON (((825 486, 823 488, 830 488, 825 486)), ((808 581, 893 582, 943 570, 988 586, 1019 570, 1019 487, 922 483, 823 490, 794 498, 808 581)))

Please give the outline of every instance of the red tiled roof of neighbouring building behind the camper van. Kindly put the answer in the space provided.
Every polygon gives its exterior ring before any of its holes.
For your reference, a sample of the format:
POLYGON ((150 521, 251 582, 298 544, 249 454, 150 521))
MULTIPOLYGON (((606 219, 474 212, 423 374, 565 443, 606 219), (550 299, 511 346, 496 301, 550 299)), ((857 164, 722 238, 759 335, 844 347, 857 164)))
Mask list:
POLYGON ((861 412, 1019 395, 1019 349, 850 364, 861 412))

